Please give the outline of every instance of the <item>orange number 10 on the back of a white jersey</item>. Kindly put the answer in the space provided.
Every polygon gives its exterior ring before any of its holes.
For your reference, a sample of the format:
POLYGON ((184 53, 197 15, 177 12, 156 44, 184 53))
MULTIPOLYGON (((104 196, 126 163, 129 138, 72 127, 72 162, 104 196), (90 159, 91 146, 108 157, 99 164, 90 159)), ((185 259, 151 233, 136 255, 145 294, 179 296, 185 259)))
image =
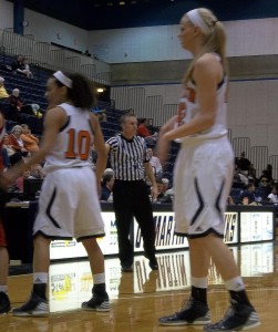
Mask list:
POLYGON ((68 151, 65 153, 65 158, 68 159, 75 159, 80 158, 81 160, 86 160, 89 158, 90 153, 90 134, 87 131, 80 131, 75 132, 75 129, 68 131, 69 134, 69 144, 68 151), (76 149, 75 149, 75 142, 76 149))

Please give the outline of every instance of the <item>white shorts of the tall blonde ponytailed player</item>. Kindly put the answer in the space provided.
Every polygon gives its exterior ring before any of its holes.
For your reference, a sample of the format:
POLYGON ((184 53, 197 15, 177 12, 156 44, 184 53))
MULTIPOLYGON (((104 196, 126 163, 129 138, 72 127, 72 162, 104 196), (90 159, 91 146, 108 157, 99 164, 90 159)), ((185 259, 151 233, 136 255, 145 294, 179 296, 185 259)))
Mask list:
POLYGON ((234 173, 226 136, 184 142, 174 170, 175 232, 188 238, 224 234, 224 214, 234 173))

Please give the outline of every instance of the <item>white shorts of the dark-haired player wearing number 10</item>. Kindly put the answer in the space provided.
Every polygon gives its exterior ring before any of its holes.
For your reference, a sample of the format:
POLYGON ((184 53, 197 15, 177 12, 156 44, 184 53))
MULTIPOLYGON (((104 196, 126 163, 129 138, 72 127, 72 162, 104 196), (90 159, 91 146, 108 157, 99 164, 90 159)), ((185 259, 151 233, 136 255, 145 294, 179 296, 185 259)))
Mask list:
POLYGON ((58 169, 43 180, 33 235, 50 238, 101 237, 104 224, 90 167, 58 169))

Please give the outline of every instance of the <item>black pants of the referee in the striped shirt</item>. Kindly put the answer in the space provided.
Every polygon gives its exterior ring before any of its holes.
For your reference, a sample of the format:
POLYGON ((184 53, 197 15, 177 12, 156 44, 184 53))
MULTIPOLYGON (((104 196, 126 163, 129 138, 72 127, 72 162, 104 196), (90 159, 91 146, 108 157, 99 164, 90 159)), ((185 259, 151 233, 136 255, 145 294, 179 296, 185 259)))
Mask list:
POLYGON ((134 243, 130 238, 133 217, 138 222, 143 238, 145 256, 155 258, 155 224, 147 186, 144 180, 115 180, 113 187, 113 206, 115 211, 119 258, 122 266, 132 266, 134 243))

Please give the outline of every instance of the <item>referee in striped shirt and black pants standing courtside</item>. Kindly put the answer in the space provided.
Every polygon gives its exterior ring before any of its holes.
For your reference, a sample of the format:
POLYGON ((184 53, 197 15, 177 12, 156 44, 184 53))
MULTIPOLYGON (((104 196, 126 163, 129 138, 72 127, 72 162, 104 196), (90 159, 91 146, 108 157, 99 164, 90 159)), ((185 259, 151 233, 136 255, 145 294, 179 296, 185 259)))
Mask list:
POLYGON ((157 196, 157 186, 150 164, 147 147, 143 137, 136 136, 137 117, 126 113, 121 116, 121 134, 106 141, 115 183, 113 187, 113 207, 115 211, 119 258, 123 272, 133 271, 133 243, 130 229, 135 217, 144 241, 145 257, 152 270, 157 270, 155 258, 155 225, 153 209, 144 181, 146 173, 153 185, 153 195, 157 196))

